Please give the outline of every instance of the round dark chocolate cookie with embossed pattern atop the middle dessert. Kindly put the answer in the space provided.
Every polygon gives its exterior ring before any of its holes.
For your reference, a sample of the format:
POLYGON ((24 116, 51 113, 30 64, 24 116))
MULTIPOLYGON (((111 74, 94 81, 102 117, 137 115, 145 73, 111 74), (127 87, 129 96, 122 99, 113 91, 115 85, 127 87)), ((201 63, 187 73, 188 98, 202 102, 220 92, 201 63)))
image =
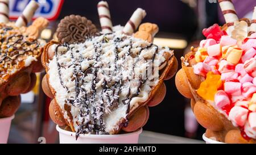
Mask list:
POLYGON ((81 43, 97 33, 92 21, 80 15, 65 16, 57 27, 57 38, 60 43, 81 43))

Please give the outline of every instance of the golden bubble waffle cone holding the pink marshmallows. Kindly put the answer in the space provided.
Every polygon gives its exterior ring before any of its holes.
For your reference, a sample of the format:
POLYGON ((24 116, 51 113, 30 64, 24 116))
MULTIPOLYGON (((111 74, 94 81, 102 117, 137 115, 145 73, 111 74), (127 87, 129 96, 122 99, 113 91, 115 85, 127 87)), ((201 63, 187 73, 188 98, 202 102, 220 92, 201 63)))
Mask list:
POLYGON ((256 143, 255 139, 242 137, 240 128, 234 127, 226 116, 197 94, 204 79, 193 72, 192 65, 195 65, 195 61, 191 57, 195 56, 196 51, 196 48, 192 48, 191 52, 181 58, 182 68, 176 74, 176 86, 181 94, 191 98, 191 107, 197 122, 207 129, 205 135, 223 143, 256 143))

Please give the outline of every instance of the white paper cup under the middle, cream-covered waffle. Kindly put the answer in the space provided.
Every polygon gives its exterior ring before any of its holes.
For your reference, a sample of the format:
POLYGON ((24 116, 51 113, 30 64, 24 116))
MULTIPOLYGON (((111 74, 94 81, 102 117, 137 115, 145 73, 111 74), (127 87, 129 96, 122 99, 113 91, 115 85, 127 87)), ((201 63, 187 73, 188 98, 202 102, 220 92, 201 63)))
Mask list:
POLYGON ((130 133, 118 135, 79 135, 76 140, 76 133, 61 129, 56 125, 59 132, 60 144, 138 144, 139 135, 142 133, 142 128, 130 133))

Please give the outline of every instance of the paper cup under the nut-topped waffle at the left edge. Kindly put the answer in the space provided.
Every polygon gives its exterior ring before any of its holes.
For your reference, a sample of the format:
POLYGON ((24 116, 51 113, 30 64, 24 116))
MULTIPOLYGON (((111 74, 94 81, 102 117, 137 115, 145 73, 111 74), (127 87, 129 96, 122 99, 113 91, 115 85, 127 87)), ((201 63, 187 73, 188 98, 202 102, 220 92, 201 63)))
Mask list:
POLYGON ((14 115, 8 118, 0 119, 0 144, 6 144, 9 137, 11 120, 14 119, 14 115))

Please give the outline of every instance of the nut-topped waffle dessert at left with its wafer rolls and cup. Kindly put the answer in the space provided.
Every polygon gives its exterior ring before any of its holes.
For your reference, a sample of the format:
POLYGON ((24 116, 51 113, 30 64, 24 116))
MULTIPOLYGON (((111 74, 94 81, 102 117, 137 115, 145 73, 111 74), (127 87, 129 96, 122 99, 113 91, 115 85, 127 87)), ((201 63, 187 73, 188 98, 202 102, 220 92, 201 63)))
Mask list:
POLYGON ((0 1, 0 142, 6 143, 10 123, 20 105, 20 94, 30 91, 36 72, 43 66, 40 56, 45 41, 38 39, 48 20, 31 21, 38 3, 31 1, 16 22, 9 22, 9 1, 0 1))

